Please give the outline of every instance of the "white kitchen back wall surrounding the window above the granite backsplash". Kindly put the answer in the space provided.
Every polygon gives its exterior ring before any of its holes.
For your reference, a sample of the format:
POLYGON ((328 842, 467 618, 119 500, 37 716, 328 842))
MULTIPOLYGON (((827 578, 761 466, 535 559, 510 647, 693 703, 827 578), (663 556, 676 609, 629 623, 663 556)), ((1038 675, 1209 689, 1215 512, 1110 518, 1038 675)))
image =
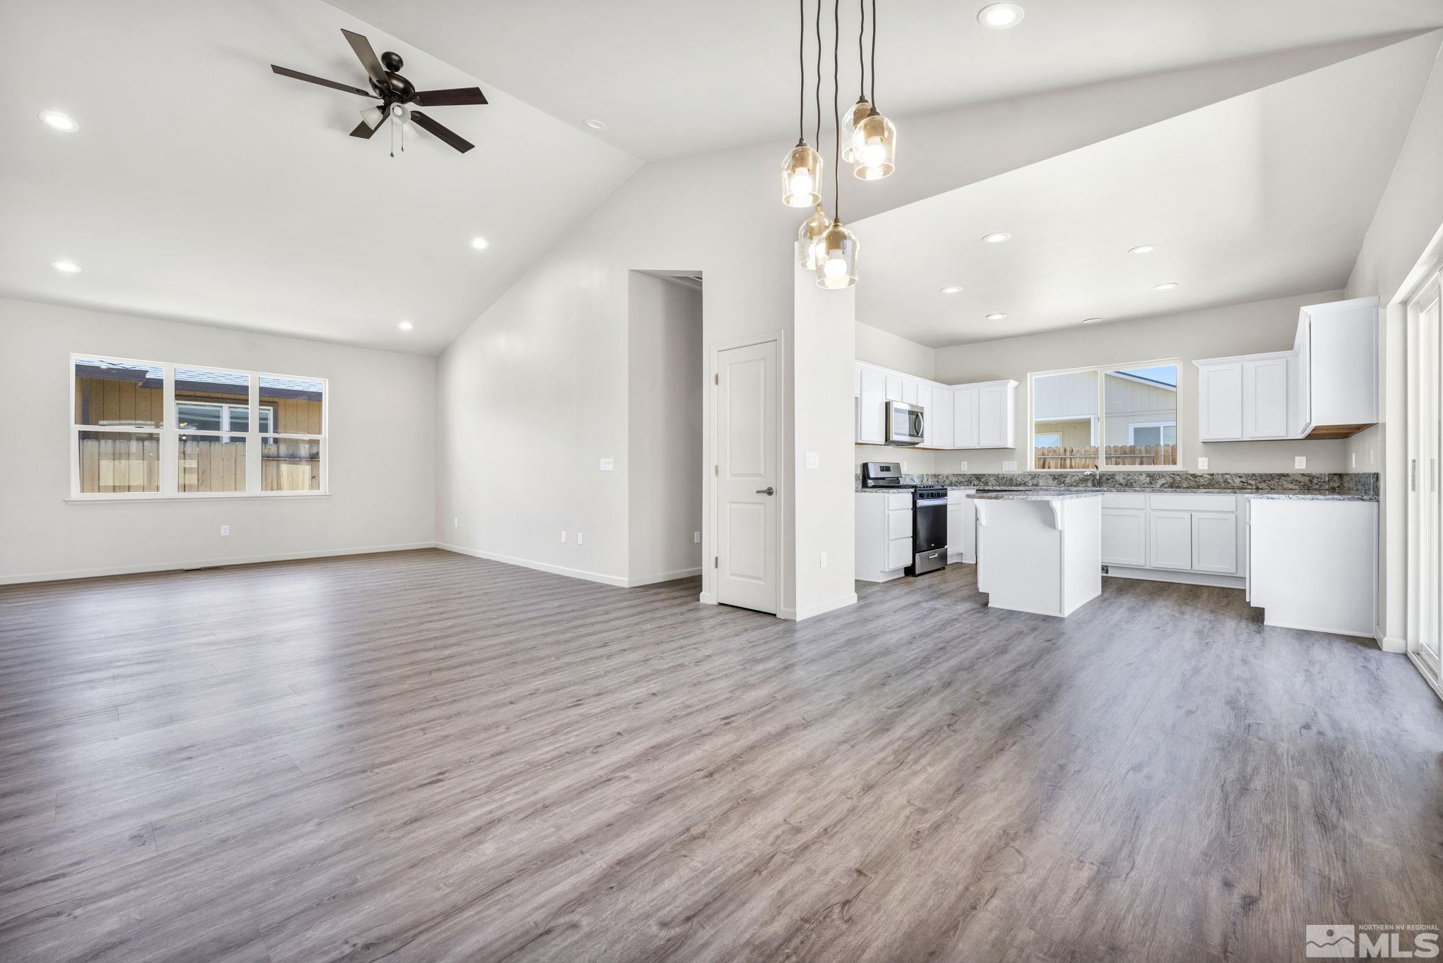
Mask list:
POLYGON ((1029 411, 1027 374, 1084 368, 1102 364, 1131 364, 1177 358, 1179 462, 1196 469, 1199 456, 1208 458, 1209 472, 1286 472, 1293 471, 1293 456, 1307 456, 1307 471, 1336 472, 1343 468, 1343 442, 1198 442, 1198 370, 1196 358, 1216 358, 1258 351, 1286 351, 1293 347, 1297 309, 1338 300, 1342 292, 1317 292, 1294 297, 1209 308, 1139 321, 1078 325, 1022 338, 937 349, 937 380, 947 384, 1013 378, 1017 381, 1017 448, 968 452, 938 452, 939 472, 957 471, 967 461, 971 472, 1001 471, 1003 461, 1016 459, 1027 466, 1029 411))

